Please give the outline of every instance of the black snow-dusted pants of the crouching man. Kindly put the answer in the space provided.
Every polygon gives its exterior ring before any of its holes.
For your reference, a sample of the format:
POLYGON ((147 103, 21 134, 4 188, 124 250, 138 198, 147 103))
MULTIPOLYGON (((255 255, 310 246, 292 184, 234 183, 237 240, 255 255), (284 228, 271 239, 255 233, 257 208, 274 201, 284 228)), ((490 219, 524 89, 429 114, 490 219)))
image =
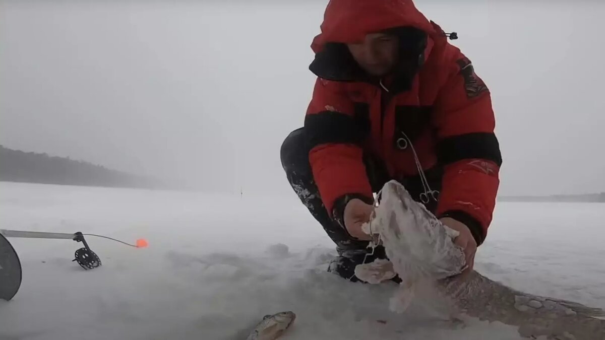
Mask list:
MULTIPOLYGON (((364 154, 364 164, 370 185, 374 192, 380 191, 387 181, 391 180, 384 166, 377 162, 371 155, 364 154)), ((370 263, 376 258, 386 258, 384 248, 378 246, 373 250, 367 248, 367 241, 351 238, 342 227, 328 215, 322 203, 319 191, 313 180, 313 173, 309 164, 309 148, 305 140, 304 128, 292 131, 281 145, 281 165, 286 171, 286 177, 296 195, 302 201, 315 220, 321 224, 327 235, 336 244, 339 257, 330 263, 329 271, 351 281, 359 281, 354 270, 357 264, 370 263)), ((429 175, 427 173, 427 175, 429 175)), ((419 196, 421 183, 416 183, 414 178, 401 181, 410 191, 413 197, 419 196), (417 195, 414 195, 417 192, 417 195)), ((432 202, 431 202, 432 203, 432 202)), ((428 204, 427 208, 434 209, 435 204, 428 204)))

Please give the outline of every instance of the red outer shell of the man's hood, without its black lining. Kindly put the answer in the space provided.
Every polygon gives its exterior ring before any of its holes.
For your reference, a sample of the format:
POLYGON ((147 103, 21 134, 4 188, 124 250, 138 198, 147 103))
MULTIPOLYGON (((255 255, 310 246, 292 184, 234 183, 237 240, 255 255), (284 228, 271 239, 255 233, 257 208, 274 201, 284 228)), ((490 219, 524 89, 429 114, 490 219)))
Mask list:
POLYGON ((428 36, 439 35, 412 0, 330 0, 321 33, 315 36, 311 48, 318 53, 327 43, 358 42, 368 33, 396 27, 414 27, 428 36))

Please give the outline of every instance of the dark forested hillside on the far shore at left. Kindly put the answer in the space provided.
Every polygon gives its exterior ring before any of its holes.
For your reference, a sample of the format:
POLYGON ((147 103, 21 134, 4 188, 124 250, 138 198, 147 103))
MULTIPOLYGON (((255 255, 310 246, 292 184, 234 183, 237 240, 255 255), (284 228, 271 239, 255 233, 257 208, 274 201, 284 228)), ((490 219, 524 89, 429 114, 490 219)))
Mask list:
POLYGON ((79 160, 23 152, 0 145, 0 181, 58 185, 160 188, 161 183, 79 160))

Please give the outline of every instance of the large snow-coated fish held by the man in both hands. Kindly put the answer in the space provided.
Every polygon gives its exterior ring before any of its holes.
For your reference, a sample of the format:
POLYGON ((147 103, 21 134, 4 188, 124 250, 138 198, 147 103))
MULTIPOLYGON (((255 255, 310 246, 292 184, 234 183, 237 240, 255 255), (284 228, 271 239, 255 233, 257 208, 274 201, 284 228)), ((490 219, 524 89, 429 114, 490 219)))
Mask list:
POLYGON ((364 226, 378 235, 387 260, 358 266, 362 280, 377 283, 396 273, 402 279, 391 309, 402 312, 414 292, 427 283, 434 298, 442 298, 449 315, 468 315, 518 327, 520 336, 565 340, 604 340, 605 312, 572 301, 531 295, 505 286, 465 266, 462 249, 453 243, 456 230, 444 226, 405 188, 390 181, 379 193, 379 204, 364 226))

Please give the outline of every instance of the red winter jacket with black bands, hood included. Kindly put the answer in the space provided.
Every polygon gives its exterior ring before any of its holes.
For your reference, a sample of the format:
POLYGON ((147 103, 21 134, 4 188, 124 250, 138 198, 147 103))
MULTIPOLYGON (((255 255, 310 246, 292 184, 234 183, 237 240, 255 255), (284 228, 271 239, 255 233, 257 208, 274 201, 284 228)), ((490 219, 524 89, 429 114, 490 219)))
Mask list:
MULTIPOLYGON (((420 178, 416 152, 423 172, 439 174, 430 185, 439 189, 437 217, 462 221, 478 244, 485 240, 502 165, 491 96, 447 36, 411 0, 330 1, 312 44, 310 70, 318 79, 305 119, 310 165, 330 215, 345 195, 373 197, 362 155, 372 154, 404 183, 420 178), (376 82, 344 43, 391 28, 408 30, 408 42, 417 43, 404 48, 417 72, 376 82)), ((427 189, 420 194, 431 197, 427 189)))

